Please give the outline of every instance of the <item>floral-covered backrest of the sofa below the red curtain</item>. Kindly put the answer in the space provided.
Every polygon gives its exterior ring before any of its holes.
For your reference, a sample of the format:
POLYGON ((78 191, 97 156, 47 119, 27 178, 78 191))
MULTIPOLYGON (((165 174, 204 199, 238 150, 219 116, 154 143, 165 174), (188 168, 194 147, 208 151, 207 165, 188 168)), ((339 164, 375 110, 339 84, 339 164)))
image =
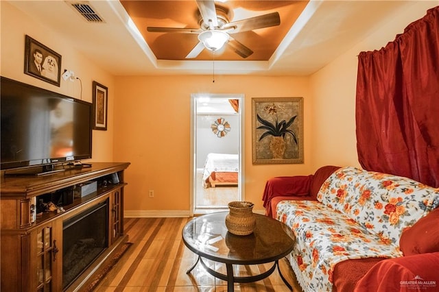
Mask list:
POLYGON ((439 189, 409 178, 344 167, 324 182, 317 199, 381 241, 399 245, 403 229, 439 205, 439 189))

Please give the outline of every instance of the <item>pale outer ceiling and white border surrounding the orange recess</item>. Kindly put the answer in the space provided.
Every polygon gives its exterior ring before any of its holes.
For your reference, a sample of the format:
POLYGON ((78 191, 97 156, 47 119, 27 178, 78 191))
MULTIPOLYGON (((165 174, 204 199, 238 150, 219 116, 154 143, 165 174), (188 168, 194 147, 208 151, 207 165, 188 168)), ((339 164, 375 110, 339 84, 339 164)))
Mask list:
MULTIPOLYGON (((119 1, 88 1, 105 23, 86 22, 68 1, 8 2, 58 32, 75 49, 113 75, 212 72, 211 61, 156 60, 137 28, 130 25, 130 18, 119 1)), ((429 7, 434 7, 438 1, 429 2, 429 7)), ((418 3, 311 0, 270 61, 216 61, 215 73, 310 75, 351 49, 381 23, 391 21, 392 15, 418 3)))

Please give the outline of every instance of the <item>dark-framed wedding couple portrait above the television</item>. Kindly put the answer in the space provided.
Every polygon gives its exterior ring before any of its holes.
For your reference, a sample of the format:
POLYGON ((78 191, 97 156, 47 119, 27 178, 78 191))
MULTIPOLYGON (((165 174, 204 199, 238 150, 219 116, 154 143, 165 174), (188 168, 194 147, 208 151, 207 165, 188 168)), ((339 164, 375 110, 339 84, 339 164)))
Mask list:
POLYGON ((26 35, 25 74, 60 86, 61 55, 26 35))

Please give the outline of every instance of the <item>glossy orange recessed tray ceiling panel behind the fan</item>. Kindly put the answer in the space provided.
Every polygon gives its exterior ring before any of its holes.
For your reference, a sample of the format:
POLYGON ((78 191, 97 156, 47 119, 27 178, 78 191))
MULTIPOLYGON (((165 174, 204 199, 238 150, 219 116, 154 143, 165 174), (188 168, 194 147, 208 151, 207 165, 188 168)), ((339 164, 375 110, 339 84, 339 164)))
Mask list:
MULTIPOLYGON (((204 49, 190 60, 269 60, 308 1, 215 1, 228 11, 229 21, 278 12, 281 25, 230 34, 254 53, 241 58, 225 45, 215 52, 204 49)), ((147 32, 147 27, 187 27, 198 29, 200 13, 197 3, 191 1, 121 1, 132 21, 141 32, 158 60, 188 60, 189 51, 198 43, 198 34, 147 32)))

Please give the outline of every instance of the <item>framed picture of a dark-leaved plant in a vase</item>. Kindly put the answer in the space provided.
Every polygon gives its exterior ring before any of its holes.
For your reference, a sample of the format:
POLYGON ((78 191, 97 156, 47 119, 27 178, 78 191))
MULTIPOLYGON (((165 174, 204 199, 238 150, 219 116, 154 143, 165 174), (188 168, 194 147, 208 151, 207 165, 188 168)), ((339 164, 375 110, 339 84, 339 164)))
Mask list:
POLYGON ((253 164, 303 163, 303 98, 252 98, 253 164))

